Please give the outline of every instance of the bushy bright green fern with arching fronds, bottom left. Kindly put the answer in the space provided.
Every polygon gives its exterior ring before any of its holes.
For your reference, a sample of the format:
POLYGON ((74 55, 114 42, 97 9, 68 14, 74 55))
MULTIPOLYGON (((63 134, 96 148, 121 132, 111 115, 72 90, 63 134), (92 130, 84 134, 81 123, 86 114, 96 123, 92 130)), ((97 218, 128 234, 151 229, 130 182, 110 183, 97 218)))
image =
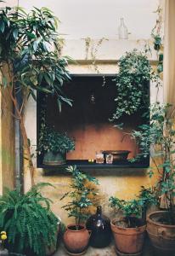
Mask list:
POLYGON ((50 200, 40 189, 49 183, 38 183, 25 195, 20 189, 6 190, 0 198, 0 227, 8 234, 11 252, 44 256, 46 247, 56 244, 58 218, 50 210, 50 200))

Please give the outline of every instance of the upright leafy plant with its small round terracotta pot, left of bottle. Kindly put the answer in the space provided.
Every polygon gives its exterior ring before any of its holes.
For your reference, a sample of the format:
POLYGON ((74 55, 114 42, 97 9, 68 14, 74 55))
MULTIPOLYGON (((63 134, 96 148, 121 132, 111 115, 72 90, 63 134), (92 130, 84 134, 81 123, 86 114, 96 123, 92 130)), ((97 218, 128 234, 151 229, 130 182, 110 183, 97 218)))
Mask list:
POLYGON ((71 191, 66 193, 61 200, 69 197, 69 201, 63 208, 69 212, 68 217, 75 218, 74 224, 69 224, 64 234, 65 249, 71 255, 80 255, 88 248, 90 231, 84 224, 88 218, 88 207, 93 206, 94 196, 98 180, 88 174, 80 172, 76 166, 68 166, 67 172, 71 173, 71 191))

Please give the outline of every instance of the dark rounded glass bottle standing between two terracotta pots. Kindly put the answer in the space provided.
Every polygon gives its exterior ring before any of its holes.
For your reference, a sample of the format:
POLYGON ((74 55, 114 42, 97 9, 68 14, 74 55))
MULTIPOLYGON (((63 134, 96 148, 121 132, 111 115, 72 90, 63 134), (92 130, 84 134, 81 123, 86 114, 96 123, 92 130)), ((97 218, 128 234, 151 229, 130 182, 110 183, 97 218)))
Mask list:
POLYGON ((90 245, 92 247, 107 247, 111 241, 110 218, 102 214, 101 206, 87 221, 87 229, 92 230, 90 245))

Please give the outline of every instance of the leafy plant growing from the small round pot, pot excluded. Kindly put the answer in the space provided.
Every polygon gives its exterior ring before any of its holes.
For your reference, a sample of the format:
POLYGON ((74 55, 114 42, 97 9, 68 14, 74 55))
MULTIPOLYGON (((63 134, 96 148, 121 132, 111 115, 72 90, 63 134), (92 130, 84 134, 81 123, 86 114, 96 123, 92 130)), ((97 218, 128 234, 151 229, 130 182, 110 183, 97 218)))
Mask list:
POLYGON ((95 185, 99 181, 95 177, 80 172, 76 166, 68 166, 67 172, 71 173, 70 192, 65 193, 61 198, 69 197, 69 201, 63 208, 69 212, 68 217, 74 217, 76 222, 76 230, 79 229, 80 224, 88 218, 88 207, 93 206, 94 196, 98 195, 98 189, 95 185))

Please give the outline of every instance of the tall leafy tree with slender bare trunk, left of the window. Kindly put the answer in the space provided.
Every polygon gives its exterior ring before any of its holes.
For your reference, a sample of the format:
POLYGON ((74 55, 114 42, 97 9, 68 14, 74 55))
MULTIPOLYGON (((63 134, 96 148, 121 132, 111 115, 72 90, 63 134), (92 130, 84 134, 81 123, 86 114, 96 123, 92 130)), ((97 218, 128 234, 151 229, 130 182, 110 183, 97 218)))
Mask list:
MULTIPOLYGON (((8 95, 14 107, 11 114, 20 121, 32 184, 34 168, 24 125, 25 104, 29 96, 36 100, 36 91, 42 91, 57 96, 59 108, 61 102, 71 105, 62 91, 70 75, 65 69, 67 59, 57 52, 57 26, 58 20, 47 8, 34 8, 29 14, 21 8, 0 9, 1 93, 8 95), (21 102, 17 100, 19 95, 21 102)), ((8 106, 4 108, 8 111, 8 106)))

